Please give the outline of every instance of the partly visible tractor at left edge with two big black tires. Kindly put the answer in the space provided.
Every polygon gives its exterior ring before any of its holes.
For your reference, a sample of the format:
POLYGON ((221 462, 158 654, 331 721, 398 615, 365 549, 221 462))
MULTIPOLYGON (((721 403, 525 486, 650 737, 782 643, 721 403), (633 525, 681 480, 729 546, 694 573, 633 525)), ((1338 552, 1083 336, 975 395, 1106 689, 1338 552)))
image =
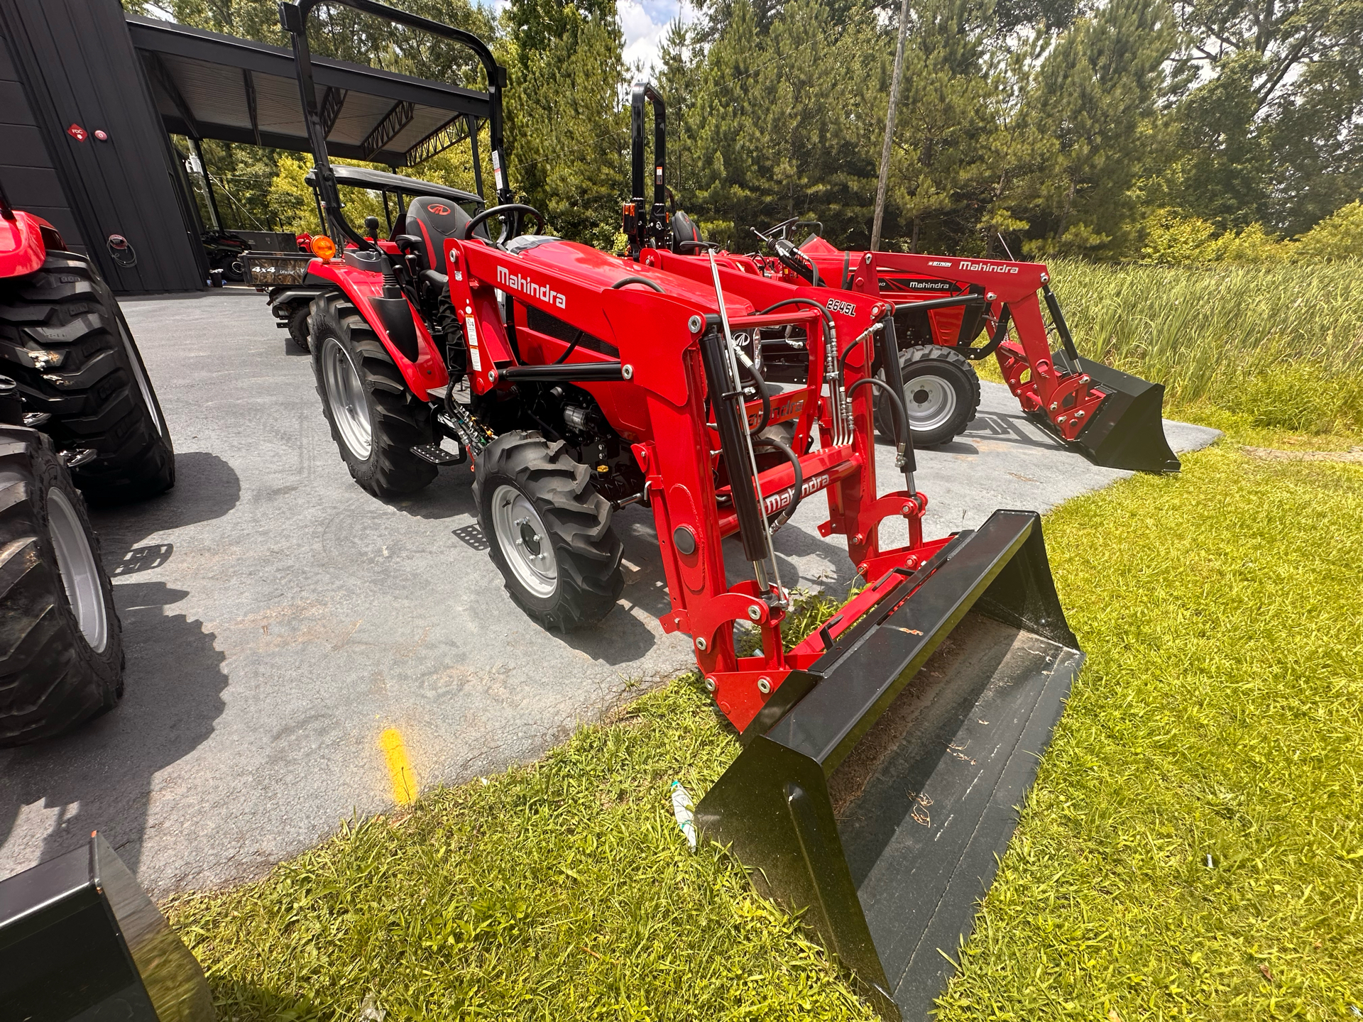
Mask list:
POLYGON ((123 695, 123 645, 86 500, 174 484, 174 447, 119 304, 0 187, 0 745, 123 695))

